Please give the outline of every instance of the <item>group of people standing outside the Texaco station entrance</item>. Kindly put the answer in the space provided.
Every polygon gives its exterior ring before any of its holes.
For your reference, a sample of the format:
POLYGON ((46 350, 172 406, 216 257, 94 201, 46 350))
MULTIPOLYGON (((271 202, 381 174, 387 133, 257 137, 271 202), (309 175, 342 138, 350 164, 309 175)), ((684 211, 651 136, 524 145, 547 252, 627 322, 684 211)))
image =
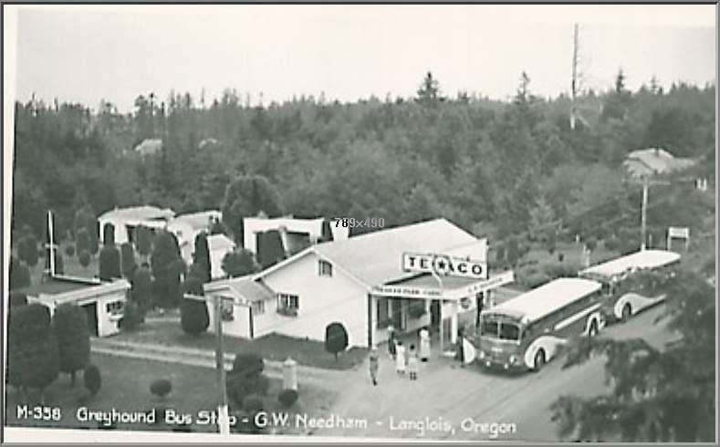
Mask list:
MULTIPOLYGON (((405 348, 402 340, 395 338, 394 329, 388 327, 388 354, 395 362, 395 371, 399 376, 407 373, 411 380, 418 379, 419 363, 430 359, 430 332, 423 327, 418 337, 420 349, 416 349, 414 344, 405 348)), ((378 349, 373 347, 370 351, 370 379, 373 385, 378 384, 378 361, 378 349)))

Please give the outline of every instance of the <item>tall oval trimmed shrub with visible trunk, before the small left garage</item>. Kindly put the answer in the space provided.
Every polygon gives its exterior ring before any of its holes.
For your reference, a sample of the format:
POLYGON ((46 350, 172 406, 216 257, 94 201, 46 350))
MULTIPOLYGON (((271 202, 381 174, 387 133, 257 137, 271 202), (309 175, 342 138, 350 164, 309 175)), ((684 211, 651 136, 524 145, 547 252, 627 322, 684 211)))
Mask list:
POLYGON ((75 386, 75 372, 84 369, 90 359, 85 311, 75 304, 60 305, 55 309, 53 326, 60 355, 60 370, 70 375, 70 386, 75 386))

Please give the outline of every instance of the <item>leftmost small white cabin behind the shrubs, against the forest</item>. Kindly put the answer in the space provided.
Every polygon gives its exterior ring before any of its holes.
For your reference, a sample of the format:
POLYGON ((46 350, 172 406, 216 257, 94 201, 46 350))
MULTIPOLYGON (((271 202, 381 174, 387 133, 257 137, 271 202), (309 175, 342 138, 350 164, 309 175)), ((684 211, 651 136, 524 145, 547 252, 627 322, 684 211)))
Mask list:
POLYGON ((130 208, 115 208, 98 217, 99 240, 104 242, 105 225, 115 227, 115 244, 133 242, 135 228, 146 226, 153 230, 162 230, 174 217, 175 212, 170 209, 161 209, 155 206, 131 206, 130 208))

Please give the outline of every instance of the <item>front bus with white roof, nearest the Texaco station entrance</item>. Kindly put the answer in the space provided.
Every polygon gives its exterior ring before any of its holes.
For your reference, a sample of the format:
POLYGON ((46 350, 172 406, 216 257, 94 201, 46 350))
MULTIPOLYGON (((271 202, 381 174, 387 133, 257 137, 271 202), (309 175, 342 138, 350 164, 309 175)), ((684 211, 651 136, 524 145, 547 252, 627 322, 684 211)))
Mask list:
POLYGON ((485 367, 539 370, 558 347, 605 326, 602 285, 558 278, 481 314, 477 359, 485 367))

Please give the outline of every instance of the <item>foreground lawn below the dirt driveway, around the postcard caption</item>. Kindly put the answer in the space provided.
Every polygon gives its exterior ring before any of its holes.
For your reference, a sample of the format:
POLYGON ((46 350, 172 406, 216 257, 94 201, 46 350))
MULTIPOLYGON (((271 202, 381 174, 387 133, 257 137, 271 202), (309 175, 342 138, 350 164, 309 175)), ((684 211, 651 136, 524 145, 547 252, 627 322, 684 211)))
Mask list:
MULTIPOLYGON (((217 384, 214 371, 199 367, 185 366, 174 363, 149 361, 141 359, 123 359, 93 353, 91 361, 100 369, 102 388, 94 398, 84 404, 91 411, 149 411, 152 408, 162 407, 172 409, 178 413, 188 413, 196 419, 198 411, 214 411, 217 405, 217 384), (163 400, 153 396, 150 392, 151 382, 155 379, 170 379, 172 391, 163 400)), ((17 419, 16 405, 18 394, 16 390, 7 390, 6 423, 9 426, 20 427, 55 427, 55 428, 87 428, 97 429, 97 421, 78 421, 78 408, 83 406, 80 400, 86 395, 82 380, 74 388, 69 387, 68 375, 60 374, 55 382, 47 388, 45 405, 60 407, 62 418, 60 421, 32 421, 30 419, 17 419)), ((282 388, 278 379, 270 379, 270 389, 265 398, 267 411, 280 411, 277 394, 282 388)), ((299 390, 299 399, 290 411, 308 411, 308 413, 327 412, 336 399, 336 395, 329 390, 318 390, 314 387, 302 386, 299 390)), ((26 402, 32 404, 34 402, 26 402)), ((162 419, 162 418, 159 418, 162 419)), ((118 430, 132 431, 173 431, 178 430, 175 425, 156 423, 154 425, 136 422, 118 423, 118 430)), ((187 431, 187 429, 183 429, 187 431)), ((193 423, 192 431, 214 432, 217 428, 213 424, 193 423)), ((291 433, 291 431, 286 431, 291 433)))

